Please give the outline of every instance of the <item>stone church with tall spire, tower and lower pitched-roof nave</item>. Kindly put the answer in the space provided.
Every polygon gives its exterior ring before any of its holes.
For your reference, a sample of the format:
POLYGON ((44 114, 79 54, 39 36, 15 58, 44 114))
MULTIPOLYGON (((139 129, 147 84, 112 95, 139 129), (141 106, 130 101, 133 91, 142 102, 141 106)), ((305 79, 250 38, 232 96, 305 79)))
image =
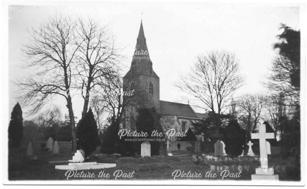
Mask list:
MULTIPOLYGON (((123 86, 125 87, 124 91, 129 88, 135 90, 135 96, 133 96, 135 106, 130 105, 124 109, 126 119, 122 127, 128 130, 135 130, 136 107, 154 107, 162 115, 160 122, 164 133, 169 129, 184 132, 191 128, 194 131, 192 122, 208 118, 207 114, 196 113, 189 104, 160 100, 160 78, 153 70, 153 62, 150 60, 142 21, 130 70, 123 77, 123 86)), ((174 141, 175 136, 170 140, 174 141)))

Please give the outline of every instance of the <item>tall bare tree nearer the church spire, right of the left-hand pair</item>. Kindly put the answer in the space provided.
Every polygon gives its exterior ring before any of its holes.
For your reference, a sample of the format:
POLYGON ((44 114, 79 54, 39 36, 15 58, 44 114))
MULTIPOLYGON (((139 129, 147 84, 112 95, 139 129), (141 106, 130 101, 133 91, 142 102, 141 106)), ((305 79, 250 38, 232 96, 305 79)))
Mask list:
POLYGON ((120 55, 106 27, 100 27, 91 19, 87 21, 79 19, 77 31, 80 41, 77 70, 79 89, 84 99, 83 118, 87 112, 90 93, 95 88, 107 87, 108 80, 117 77, 120 55))

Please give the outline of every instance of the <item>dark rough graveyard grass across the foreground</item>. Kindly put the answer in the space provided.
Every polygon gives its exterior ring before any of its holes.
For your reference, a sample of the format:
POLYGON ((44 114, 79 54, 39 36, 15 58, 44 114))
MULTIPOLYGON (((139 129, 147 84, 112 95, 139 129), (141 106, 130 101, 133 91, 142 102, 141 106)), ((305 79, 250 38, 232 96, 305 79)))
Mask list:
MULTIPOLYGON (((9 159, 9 180, 66 180, 66 170, 57 170, 55 165, 68 164, 63 163, 49 163, 49 161, 61 161, 72 159, 71 153, 59 153, 52 154, 48 152, 42 152, 38 154, 37 160, 31 160, 26 157, 25 152, 11 151, 9 159), (24 154, 24 155, 22 155, 24 154)), ((116 170, 122 170, 123 172, 135 172, 132 178, 118 178, 118 180, 172 180, 172 173, 175 170, 181 170, 184 172, 191 171, 191 173, 201 173, 202 180, 220 180, 220 172, 224 169, 228 169, 230 173, 237 173, 242 170, 239 178, 224 178, 224 180, 251 180, 251 174, 255 174, 255 168, 260 166, 260 161, 253 160, 252 157, 243 156, 239 158, 220 157, 218 161, 214 159, 201 158, 199 164, 193 161, 191 153, 176 155, 176 156, 152 156, 152 157, 94 157, 91 156, 91 161, 97 163, 116 163, 116 167, 103 169, 105 173, 110 173, 110 178, 98 178, 98 174, 102 169, 84 170, 85 173, 95 173, 97 180, 112 179, 115 177, 113 173, 116 170), (216 178, 205 178, 207 171, 216 173, 216 178)), ((201 156, 202 153, 195 154, 201 156)), ((214 157, 214 154, 206 154, 214 157)), ((285 160, 281 159, 279 155, 269 155, 269 166, 273 166, 275 174, 279 174, 281 181, 293 181, 297 180, 297 173, 295 167, 295 157, 289 157, 285 160)), ((81 172, 78 171, 78 172, 81 172)), ((69 178, 69 180, 78 178, 69 178)), ((82 178, 80 178, 81 180, 82 178)), ((191 179, 191 178, 177 178, 179 179, 191 179)), ((79 179, 78 179, 79 180, 79 179)), ((87 180, 87 179, 85 179, 87 180)))

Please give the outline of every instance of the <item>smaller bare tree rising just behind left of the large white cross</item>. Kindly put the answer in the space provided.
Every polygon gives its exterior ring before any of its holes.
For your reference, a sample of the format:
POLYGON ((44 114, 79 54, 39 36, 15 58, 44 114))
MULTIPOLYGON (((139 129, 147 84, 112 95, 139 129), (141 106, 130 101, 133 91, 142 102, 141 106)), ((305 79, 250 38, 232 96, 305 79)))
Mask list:
POLYGON ((257 123, 262 118, 265 103, 265 97, 259 94, 245 94, 235 101, 237 117, 247 132, 247 141, 251 139, 251 133, 255 131, 257 123))

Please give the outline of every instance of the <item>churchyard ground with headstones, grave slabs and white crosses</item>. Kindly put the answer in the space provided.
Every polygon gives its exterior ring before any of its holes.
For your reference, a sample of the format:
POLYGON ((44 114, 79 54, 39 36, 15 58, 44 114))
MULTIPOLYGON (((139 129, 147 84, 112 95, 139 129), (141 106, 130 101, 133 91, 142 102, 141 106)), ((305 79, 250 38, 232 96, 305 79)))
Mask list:
MULTIPOLYGON (((269 137, 268 133, 255 134, 253 138, 269 137)), ((262 141, 263 142, 263 141, 262 141)), ((9 160, 10 180, 252 180, 255 175, 277 176, 280 181, 297 180, 299 170, 295 157, 282 159, 279 154, 267 155, 267 146, 260 148, 259 154, 252 152, 249 142, 248 154, 230 157, 223 152, 223 143, 215 143, 214 153, 189 152, 186 150, 170 151, 161 156, 151 156, 150 143, 143 142, 140 146, 141 155, 121 157, 120 154, 101 154, 99 148, 91 154, 86 162, 95 164, 109 164, 110 168, 87 167, 89 163, 82 163, 82 155, 78 153, 59 153, 59 145, 49 138, 46 142, 52 150, 34 150, 29 142, 26 150, 14 151, 9 160), (265 150, 265 151, 263 151, 265 150), (75 158, 73 158, 73 155, 75 158), (81 159, 79 159, 79 156, 81 159), (261 158, 263 156, 263 158, 261 158), (265 157, 267 156, 267 158, 265 157), (74 162, 74 163, 69 163, 74 162), (80 162, 80 163, 75 163, 80 162), (59 167, 67 164, 85 164, 84 168, 59 167), (59 166, 59 167, 57 167, 59 166), (60 168, 60 169, 61 169, 60 168), (65 169, 65 168, 64 168, 65 169), (31 173, 31 174, 29 174, 31 173), (256 173, 256 174, 255 174, 256 173)), ((197 144, 198 145, 198 144, 197 144)), ((197 148, 197 147, 196 147, 197 148)), ((270 178, 272 180, 272 178, 270 178)))

